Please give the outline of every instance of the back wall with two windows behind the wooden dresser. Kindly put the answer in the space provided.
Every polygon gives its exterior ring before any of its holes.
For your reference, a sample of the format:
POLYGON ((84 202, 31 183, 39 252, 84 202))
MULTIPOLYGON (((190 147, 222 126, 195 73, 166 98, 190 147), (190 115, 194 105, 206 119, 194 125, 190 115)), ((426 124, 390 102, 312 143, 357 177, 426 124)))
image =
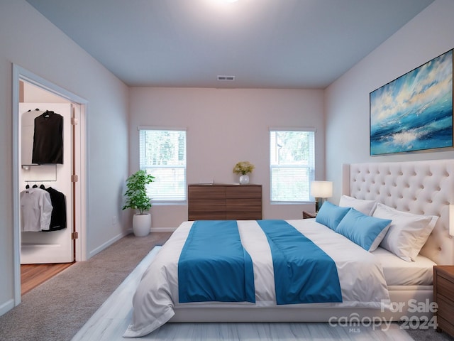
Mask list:
MULTIPOLYGON (((238 161, 250 161, 250 182, 262 185, 263 217, 301 218, 314 205, 270 205, 269 128, 312 126, 316 178, 324 176, 323 90, 133 87, 130 90, 130 171, 139 167, 138 126, 187 128, 187 181, 238 183, 238 161)), ((177 227, 187 205, 152 207, 153 227, 177 227)))

